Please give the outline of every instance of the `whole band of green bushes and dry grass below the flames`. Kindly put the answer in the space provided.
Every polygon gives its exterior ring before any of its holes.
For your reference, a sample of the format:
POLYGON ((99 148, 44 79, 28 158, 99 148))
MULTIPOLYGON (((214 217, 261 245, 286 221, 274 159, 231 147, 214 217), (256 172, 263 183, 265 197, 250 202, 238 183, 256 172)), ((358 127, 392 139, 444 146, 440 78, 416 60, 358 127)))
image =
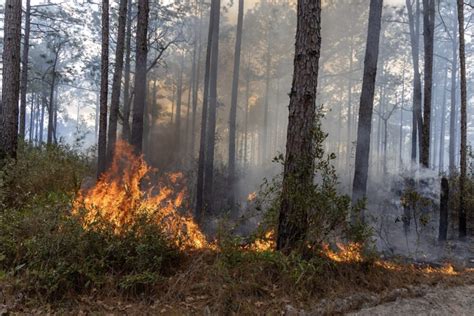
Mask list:
MULTIPOLYGON (((145 298, 183 313, 277 313, 288 304, 310 308, 323 298, 467 280, 389 268, 370 251, 353 262, 331 260, 323 248, 309 257, 255 251, 231 234, 220 235, 215 248, 184 252, 147 217, 120 235, 101 219, 85 228, 71 209, 89 161, 65 147, 21 150, 0 173, 0 288, 8 283, 42 303, 85 295, 145 298)), ((271 222, 275 214, 268 216, 271 222)))

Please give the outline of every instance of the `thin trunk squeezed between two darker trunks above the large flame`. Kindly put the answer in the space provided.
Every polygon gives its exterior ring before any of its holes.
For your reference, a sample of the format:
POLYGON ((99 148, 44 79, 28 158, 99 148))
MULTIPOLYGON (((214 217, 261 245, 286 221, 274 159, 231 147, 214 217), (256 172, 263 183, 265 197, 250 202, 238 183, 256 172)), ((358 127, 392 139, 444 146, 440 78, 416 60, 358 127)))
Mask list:
POLYGON ((130 105, 132 100, 130 97, 130 72, 131 72, 131 54, 132 54, 132 3, 133 0, 128 0, 127 8, 127 34, 125 36, 125 69, 124 69, 124 83, 123 83, 123 128, 122 138, 130 142, 130 105))

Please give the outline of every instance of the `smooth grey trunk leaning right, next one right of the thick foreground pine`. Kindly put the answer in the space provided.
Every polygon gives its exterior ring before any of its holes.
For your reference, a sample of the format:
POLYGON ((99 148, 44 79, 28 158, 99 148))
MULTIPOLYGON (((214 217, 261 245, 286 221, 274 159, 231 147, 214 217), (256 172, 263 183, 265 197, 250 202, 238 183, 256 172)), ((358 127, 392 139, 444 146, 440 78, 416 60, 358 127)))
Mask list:
MULTIPOLYGON (((370 132, 374 107, 375 78, 379 55, 380 30, 382 25, 383 0, 370 0, 369 27, 364 60, 364 77, 360 96, 359 123, 357 129, 357 146, 355 173, 352 186, 352 202, 356 204, 367 195, 367 178, 369 171, 370 132)), ((353 216, 353 220, 357 220, 353 216)), ((364 220, 364 214, 360 214, 364 220)))

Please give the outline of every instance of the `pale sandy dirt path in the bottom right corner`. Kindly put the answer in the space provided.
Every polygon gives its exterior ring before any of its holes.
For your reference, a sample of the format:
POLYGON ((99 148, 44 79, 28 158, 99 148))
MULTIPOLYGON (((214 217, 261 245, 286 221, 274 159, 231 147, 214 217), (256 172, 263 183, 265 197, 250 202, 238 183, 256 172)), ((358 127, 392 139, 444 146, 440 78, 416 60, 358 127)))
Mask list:
POLYGON ((403 298, 349 315, 474 315, 474 285, 433 288, 417 298, 403 298))

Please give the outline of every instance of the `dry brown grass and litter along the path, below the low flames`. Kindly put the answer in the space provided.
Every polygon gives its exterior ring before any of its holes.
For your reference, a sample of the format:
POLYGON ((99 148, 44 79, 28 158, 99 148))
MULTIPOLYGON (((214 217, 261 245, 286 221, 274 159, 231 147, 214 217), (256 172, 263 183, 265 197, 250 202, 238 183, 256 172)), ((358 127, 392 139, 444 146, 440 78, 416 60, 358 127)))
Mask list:
POLYGON ((9 311, 28 314, 278 314, 288 306, 339 314, 398 297, 419 296, 433 286, 474 284, 472 270, 415 267, 376 259, 305 261, 274 252, 241 250, 190 252, 177 270, 138 296, 102 289, 50 306, 38 298, 22 296, 10 279, 0 284, 0 299, 9 311))

